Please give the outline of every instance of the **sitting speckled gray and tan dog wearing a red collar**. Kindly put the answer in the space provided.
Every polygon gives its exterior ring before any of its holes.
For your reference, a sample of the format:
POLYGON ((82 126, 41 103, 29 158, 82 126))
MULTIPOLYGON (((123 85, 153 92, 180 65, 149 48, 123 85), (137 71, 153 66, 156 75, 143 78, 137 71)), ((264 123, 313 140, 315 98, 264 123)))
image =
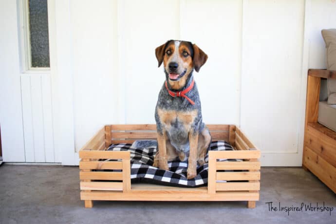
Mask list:
POLYGON ((197 175, 197 162, 205 164, 211 135, 202 120, 201 101, 193 77, 207 55, 189 41, 168 40, 155 49, 160 67, 164 64, 166 81, 155 108, 158 151, 153 166, 169 170, 168 160, 188 159, 187 179, 197 175))

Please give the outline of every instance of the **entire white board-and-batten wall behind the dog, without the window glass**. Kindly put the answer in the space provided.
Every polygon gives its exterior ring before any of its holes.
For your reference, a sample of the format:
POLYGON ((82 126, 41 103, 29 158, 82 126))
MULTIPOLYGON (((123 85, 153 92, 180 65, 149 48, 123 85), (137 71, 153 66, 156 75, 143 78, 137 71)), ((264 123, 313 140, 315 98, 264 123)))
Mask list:
POLYGON ((204 121, 240 125, 263 166, 301 165, 307 69, 325 68, 335 1, 49 0, 51 72, 37 75, 19 69, 16 1, 1 4, 4 161, 74 165, 103 125, 155 123, 154 49, 185 39, 209 56, 195 73, 204 121))

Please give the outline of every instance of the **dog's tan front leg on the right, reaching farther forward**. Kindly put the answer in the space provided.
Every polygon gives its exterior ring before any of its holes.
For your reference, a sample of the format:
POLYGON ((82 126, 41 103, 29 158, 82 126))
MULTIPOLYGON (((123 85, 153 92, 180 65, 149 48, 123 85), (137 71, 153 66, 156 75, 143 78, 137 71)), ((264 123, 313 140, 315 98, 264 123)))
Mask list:
POLYGON ((187 179, 192 179, 197 175, 197 142, 198 142, 198 132, 188 134, 190 151, 188 159, 188 169, 187 169, 187 179))

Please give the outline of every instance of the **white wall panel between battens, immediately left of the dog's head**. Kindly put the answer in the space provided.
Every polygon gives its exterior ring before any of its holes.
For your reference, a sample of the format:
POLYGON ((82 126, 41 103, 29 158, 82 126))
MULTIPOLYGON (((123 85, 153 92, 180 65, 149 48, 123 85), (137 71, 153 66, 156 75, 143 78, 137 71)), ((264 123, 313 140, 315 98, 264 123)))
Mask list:
POLYGON ((179 1, 124 1, 123 37, 119 51, 119 75, 125 78, 125 121, 155 123, 157 96, 164 83, 163 67, 157 68, 155 48, 169 39, 179 39, 179 1))

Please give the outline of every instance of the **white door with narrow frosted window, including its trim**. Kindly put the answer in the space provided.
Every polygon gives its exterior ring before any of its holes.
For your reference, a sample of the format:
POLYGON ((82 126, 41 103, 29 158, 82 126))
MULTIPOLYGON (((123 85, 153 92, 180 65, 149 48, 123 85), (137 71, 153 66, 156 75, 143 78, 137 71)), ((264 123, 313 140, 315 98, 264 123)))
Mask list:
POLYGON ((0 4, 3 161, 75 165, 72 83, 63 78, 69 72, 57 74, 56 3, 0 4))

